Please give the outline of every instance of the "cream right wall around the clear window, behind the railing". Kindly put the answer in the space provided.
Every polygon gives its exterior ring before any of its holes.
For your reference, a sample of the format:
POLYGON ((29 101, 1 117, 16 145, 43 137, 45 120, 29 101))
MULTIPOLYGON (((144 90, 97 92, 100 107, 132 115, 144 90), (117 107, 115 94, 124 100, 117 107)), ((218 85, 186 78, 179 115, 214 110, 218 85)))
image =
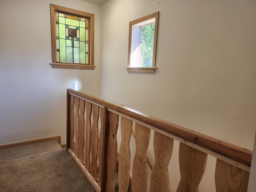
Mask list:
MULTIPOLYGON (((251 0, 110 0, 101 6, 100 96, 252 150, 255 15, 256 1, 251 0), (129 22, 157 11, 158 69, 128 73, 129 22)), ((152 145, 148 155, 154 160, 152 145)), ((201 191, 215 191, 215 163, 208 157, 201 191)), ((176 191, 178 142, 169 169, 176 191)))

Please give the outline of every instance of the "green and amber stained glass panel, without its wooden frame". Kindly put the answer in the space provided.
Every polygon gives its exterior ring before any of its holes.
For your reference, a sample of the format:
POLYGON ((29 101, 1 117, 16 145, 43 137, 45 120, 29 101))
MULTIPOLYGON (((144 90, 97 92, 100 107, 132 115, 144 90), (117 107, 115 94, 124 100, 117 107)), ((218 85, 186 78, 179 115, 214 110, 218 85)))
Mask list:
POLYGON ((88 18, 55 11, 56 61, 88 64, 88 18))

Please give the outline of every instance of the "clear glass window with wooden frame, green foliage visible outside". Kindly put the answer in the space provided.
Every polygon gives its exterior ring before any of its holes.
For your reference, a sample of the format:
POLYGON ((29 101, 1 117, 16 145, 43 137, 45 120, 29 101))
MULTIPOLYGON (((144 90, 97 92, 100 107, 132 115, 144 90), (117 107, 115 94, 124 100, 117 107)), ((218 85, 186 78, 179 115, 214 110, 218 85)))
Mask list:
POLYGON ((130 22, 128 72, 155 70, 158 12, 130 22))

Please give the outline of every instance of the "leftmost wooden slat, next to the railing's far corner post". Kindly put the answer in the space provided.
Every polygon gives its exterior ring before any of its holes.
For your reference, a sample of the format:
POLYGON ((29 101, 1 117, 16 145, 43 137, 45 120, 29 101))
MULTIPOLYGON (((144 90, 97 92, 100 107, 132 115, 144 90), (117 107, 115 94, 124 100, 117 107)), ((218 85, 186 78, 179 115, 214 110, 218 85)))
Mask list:
POLYGON ((75 99, 74 95, 70 95, 70 149, 72 152, 75 150, 74 144, 75 134, 75 99))

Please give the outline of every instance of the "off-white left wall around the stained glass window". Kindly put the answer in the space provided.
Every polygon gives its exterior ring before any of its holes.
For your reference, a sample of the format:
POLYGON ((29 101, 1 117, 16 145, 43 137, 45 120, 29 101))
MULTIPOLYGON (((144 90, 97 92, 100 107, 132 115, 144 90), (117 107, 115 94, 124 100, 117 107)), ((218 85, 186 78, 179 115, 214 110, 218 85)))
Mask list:
POLYGON ((100 93, 100 6, 80 0, 0 0, 0 144, 61 135, 66 89, 100 93), (50 3, 95 14, 95 70, 52 68, 50 3))

